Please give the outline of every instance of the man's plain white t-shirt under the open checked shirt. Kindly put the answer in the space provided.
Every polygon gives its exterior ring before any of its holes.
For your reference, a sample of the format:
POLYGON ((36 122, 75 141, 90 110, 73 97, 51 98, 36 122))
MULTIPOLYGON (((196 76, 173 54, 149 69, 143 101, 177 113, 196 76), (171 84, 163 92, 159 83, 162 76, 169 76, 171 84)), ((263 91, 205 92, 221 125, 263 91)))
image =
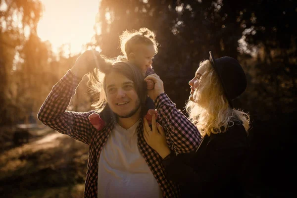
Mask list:
POLYGON ((98 163, 98 198, 162 198, 162 191, 137 145, 137 126, 115 125, 98 163))

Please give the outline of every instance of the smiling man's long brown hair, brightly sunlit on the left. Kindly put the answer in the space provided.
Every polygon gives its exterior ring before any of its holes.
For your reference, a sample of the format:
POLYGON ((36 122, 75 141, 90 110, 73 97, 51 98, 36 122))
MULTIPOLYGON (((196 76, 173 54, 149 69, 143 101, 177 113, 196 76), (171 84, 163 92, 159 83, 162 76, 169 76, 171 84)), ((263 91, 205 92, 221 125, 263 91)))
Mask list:
POLYGON ((107 104, 106 99, 106 76, 115 72, 124 75, 129 80, 133 81, 135 91, 140 99, 142 114, 145 113, 145 103, 147 99, 147 85, 144 80, 142 71, 129 62, 116 62, 107 59, 101 55, 98 61, 98 67, 89 74, 89 85, 91 91, 95 94, 96 101, 92 106, 100 112, 107 104))

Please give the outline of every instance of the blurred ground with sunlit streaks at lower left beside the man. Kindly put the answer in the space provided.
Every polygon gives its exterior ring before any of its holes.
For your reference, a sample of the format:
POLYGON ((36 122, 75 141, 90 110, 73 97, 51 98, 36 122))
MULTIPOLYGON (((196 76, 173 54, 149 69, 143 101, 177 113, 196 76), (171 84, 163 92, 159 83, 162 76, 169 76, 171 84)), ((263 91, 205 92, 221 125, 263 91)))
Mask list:
POLYGON ((82 198, 88 146, 53 130, 0 153, 0 197, 82 198))

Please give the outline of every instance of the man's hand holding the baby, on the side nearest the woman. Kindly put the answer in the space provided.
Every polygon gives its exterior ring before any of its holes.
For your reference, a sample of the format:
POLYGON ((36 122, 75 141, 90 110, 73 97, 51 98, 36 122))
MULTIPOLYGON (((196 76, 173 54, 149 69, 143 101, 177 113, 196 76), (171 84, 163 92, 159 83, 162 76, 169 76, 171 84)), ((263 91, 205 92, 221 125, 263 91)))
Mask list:
POLYGON ((148 75, 145 78, 145 81, 148 84, 148 88, 150 88, 150 86, 154 86, 153 89, 148 90, 148 96, 152 100, 155 100, 157 96, 164 93, 163 81, 157 74, 148 75), (153 83, 151 81, 153 81, 153 83))

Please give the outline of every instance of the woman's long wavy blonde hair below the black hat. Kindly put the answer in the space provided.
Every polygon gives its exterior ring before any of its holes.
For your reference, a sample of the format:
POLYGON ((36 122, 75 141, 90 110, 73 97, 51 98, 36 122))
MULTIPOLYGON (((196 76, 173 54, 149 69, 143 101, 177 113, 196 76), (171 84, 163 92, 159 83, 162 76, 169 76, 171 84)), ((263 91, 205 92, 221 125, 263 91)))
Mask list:
POLYGON ((199 67, 205 67, 205 71, 201 75, 198 89, 194 92, 194 101, 187 102, 186 110, 189 113, 189 119, 197 126, 201 135, 224 133, 240 121, 248 132, 248 113, 229 106, 211 62, 204 60, 200 62, 199 67))

